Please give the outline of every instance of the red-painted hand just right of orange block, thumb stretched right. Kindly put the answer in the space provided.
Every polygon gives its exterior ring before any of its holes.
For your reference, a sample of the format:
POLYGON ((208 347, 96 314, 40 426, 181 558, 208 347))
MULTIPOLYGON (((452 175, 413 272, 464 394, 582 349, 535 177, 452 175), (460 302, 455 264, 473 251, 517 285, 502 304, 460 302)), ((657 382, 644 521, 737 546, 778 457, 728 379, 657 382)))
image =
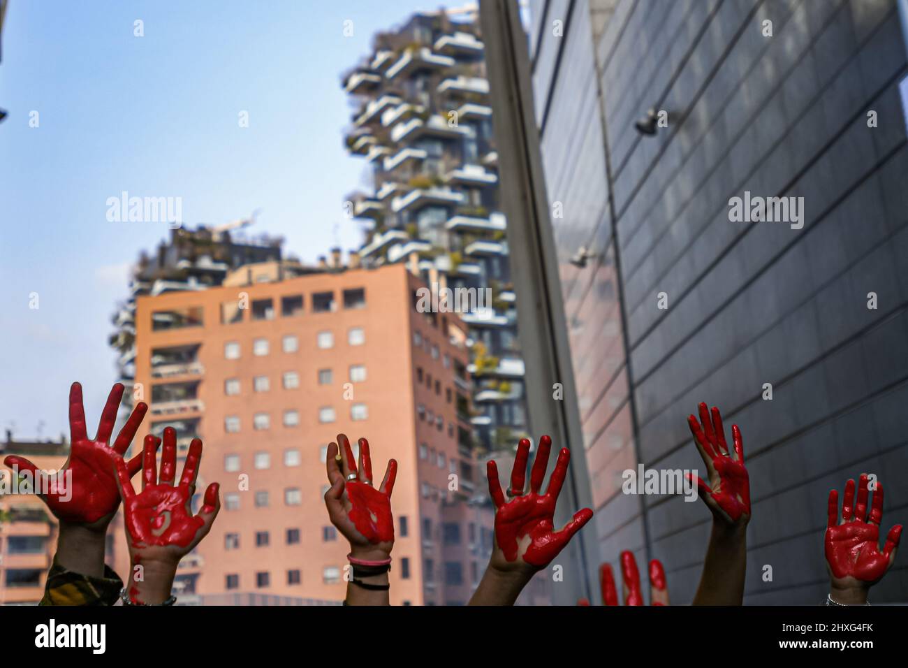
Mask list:
POLYGON ((508 562, 523 562, 541 568, 561 552, 568 541, 593 516, 589 508, 574 513, 573 519, 560 531, 555 531, 555 504, 568 474, 570 453, 562 448, 558 463, 548 481, 546 494, 539 494, 548 468, 548 454, 552 440, 548 436, 539 439, 539 449, 533 470, 530 473, 529 494, 523 494, 524 479, 529 454, 529 441, 522 439, 518 444, 514 469, 511 473, 509 493, 515 495, 507 503, 501 484, 498 482, 498 466, 489 461, 489 494, 495 502, 495 538, 498 547, 508 562))

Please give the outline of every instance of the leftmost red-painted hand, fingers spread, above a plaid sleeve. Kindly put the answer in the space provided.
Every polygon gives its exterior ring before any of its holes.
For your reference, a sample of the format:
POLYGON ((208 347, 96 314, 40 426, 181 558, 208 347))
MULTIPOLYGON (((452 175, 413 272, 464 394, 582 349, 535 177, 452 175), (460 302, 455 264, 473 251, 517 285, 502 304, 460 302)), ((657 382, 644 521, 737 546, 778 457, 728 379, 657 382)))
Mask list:
MULTIPOLYGON (((85 430, 85 412, 82 403, 82 385, 72 384, 69 390, 69 428, 70 428, 70 454, 64 464, 63 471, 71 471, 72 490, 67 494, 60 494, 54 479, 51 481, 49 494, 44 496, 44 503, 51 513, 65 523, 75 524, 104 524, 110 522, 120 503, 120 493, 117 491, 114 462, 123 462, 123 454, 133 441, 139 425, 142 424, 148 406, 140 402, 133 409, 120 434, 117 435, 113 447, 109 444, 111 434, 114 432, 117 409, 123 397, 123 385, 115 384, 107 397, 107 404, 101 414, 98 432, 93 439, 88 438, 85 430), (62 496, 72 496, 68 501, 62 501, 62 496)), ((11 454, 4 459, 4 464, 19 471, 37 473, 35 464, 25 457, 11 454)), ((142 466, 142 455, 136 455, 126 464, 130 475, 135 474, 142 466)))

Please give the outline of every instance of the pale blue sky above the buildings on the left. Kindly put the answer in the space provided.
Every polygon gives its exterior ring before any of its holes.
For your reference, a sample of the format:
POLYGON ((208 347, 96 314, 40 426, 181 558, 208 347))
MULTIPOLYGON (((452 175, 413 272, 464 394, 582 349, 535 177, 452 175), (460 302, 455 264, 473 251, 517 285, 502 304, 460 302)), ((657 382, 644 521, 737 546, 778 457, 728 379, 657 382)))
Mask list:
POLYGON ((342 148, 340 76, 370 36, 439 0, 218 3, 9 0, 0 63, 0 426, 67 432, 69 384, 96 424, 106 344, 139 251, 162 223, 109 223, 108 197, 179 196, 183 220, 250 232, 313 260, 360 239, 341 209, 365 163, 342 148), (133 36, 143 21, 144 36, 133 36), (353 35, 343 35, 344 21, 353 35), (238 115, 249 112, 249 127, 238 115), (39 127, 29 127, 38 112, 39 127), (29 295, 38 294, 38 308, 29 295))

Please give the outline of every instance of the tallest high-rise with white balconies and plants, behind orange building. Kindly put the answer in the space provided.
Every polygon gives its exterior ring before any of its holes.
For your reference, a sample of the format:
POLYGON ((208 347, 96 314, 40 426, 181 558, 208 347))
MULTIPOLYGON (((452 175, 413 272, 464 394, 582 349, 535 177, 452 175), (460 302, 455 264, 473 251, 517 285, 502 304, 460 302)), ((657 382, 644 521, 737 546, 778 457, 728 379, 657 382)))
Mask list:
POLYGON ((370 193, 350 196, 366 226, 363 264, 403 263, 439 290, 490 294, 460 315, 472 344, 472 424, 499 449, 517 443, 527 420, 483 54, 474 11, 419 13, 375 35, 342 85, 357 105, 346 145, 372 175, 370 193))

